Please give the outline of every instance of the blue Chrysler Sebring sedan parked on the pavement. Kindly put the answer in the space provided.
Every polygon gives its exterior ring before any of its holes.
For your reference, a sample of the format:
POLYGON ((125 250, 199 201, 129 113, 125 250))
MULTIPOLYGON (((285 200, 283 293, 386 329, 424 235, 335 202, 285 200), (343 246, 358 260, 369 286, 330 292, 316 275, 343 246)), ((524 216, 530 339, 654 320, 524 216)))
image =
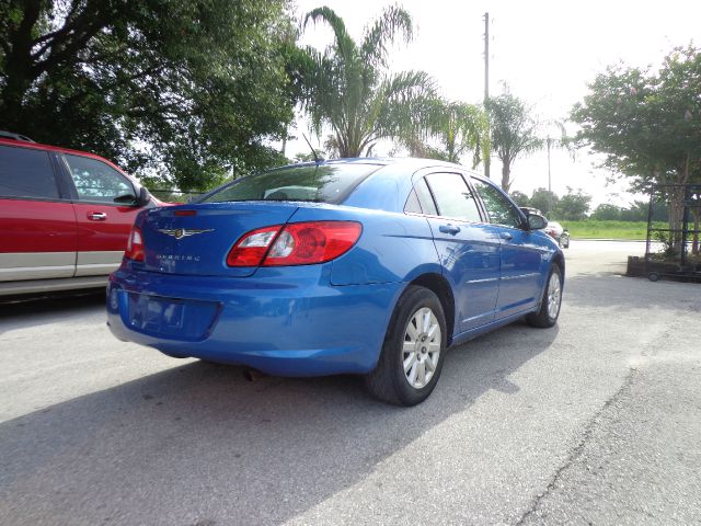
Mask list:
POLYGON ((169 356, 281 376, 365 376, 401 405, 446 348, 526 317, 552 327, 564 258, 489 180, 421 159, 295 164, 143 210, 107 317, 169 356))

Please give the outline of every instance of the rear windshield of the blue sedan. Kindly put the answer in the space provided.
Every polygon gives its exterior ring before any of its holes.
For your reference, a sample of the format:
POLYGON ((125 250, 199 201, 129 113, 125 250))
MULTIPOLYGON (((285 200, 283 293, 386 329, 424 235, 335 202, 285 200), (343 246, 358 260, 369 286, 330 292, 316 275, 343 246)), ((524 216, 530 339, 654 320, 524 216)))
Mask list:
POLYGON ((200 203, 230 201, 311 201, 341 203, 377 164, 321 164, 289 167, 239 179, 200 203))

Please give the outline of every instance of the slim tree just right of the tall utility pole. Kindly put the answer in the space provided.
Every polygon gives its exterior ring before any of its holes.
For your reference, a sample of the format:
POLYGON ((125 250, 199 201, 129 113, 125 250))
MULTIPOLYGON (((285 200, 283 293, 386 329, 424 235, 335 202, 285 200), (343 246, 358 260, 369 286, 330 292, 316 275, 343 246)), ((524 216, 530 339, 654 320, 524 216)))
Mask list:
POLYGON ((502 161, 502 188, 508 192, 516 158, 536 151, 543 141, 538 136, 538 123, 531 110, 520 99, 506 92, 490 99, 486 108, 492 128, 492 151, 502 161))

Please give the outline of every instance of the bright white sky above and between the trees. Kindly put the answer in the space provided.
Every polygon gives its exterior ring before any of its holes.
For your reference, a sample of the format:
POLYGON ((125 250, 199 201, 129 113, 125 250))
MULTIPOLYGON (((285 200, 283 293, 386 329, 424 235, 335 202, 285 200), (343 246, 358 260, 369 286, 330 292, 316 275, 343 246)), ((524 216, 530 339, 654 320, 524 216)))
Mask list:
MULTIPOLYGON (((299 15, 329 5, 360 39, 365 26, 378 16, 384 0, 297 0, 299 15)), ((391 52, 394 71, 420 69, 429 73, 441 94, 451 100, 481 103, 484 95, 484 19, 490 13, 490 93, 509 91, 532 105, 542 121, 565 118, 587 93, 587 82, 609 65, 653 66, 676 46, 701 44, 701 1, 664 2, 628 0, 404 0, 416 25, 414 41, 391 52)), ((332 33, 310 25, 302 44, 325 47, 332 33)), ((574 128, 572 128, 574 129, 574 128)), ((303 121, 296 135, 310 135, 303 121)), ((314 146, 319 141, 311 137, 314 146)), ((387 155, 380 147, 376 152, 387 155)), ((287 156, 307 152, 303 142, 288 145, 287 156)), ((633 198, 625 181, 608 184, 611 174, 595 167, 597 156, 579 150, 551 152, 552 190, 566 187, 593 195, 594 206, 625 206, 633 198)), ((481 171, 482 168, 478 169, 481 171)), ((501 181, 501 163, 492 161, 492 179, 501 181)), ((545 151, 518 158, 513 165, 512 190, 530 195, 548 187, 545 151)))

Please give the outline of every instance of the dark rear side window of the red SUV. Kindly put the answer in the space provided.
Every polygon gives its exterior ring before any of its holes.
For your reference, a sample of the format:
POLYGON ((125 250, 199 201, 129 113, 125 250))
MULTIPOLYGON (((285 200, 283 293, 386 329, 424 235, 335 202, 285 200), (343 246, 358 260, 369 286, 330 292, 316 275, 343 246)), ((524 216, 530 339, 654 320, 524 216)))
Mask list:
POLYGON ((0 146, 0 197, 58 199, 48 152, 0 146))

